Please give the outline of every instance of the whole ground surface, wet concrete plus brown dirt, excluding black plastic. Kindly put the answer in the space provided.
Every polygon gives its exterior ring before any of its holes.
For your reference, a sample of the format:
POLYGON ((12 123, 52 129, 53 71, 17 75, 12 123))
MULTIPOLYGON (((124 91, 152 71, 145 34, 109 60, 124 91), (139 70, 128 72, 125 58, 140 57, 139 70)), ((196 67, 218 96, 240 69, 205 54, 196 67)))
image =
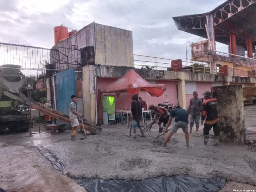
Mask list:
MULTIPOLYGON (((256 114, 256 106, 249 106, 246 110, 250 111, 249 117, 256 114)), ((246 117, 246 125, 250 125, 248 127, 251 131, 249 136, 252 137, 256 131, 252 123, 254 120, 246 117)), ((28 136, 28 133, 0 135, 1 186, 4 184, 9 187, 8 190, 15 190, 15 186, 34 186, 34 183, 39 181, 41 191, 47 191, 44 190, 45 183, 50 186, 63 183, 65 187, 58 189, 62 192, 68 191, 68 187, 77 187, 77 184, 72 183, 74 180, 64 175, 104 180, 140 180, 160 175, 191 175, 201 178, 221 177, 228 181, 256 185, 256 148, 230 143, 221 143, 215 147, 212 140, 208 146, 204 146, 202 126, 199 128, 200 135, 191 135, 189 148, 186 147, 182 130, 173 136, 171 143, 165 148, 162 147, 164 136, 154 139, 158 134, 157 125, 150 132, 146 132, 146 138, 138 137, 136 140, 129 136, 129 128, 125 125, 104 127, 102 130, 100 134, 88 135, 86 140, 74 142, 70 141, 69 131, 57 135, 51 135, 49 131, 32 136, 28 136), (54 153, 66 166, 64 175, 54 170, 50 162, 34 147, 54 153), (14 164, 11 163, 13 161, 14 164), (3 172, 7 172, 7 176, 2 174, 3 172), (26 174, 23 175, 23 172, 26 174), (23 177, 19 177, 20 174, 23 177), (68 183, 74 185, 70 186, 68 183)), ((79 134, 77 137, 83 138, 83 135, 79 134)), ((247 189, 244 184, 232 182, 226 187, 226 191, 232 191, 233 187, 247 189)), ((250 187, 253 189, 255 186, 250 187)))

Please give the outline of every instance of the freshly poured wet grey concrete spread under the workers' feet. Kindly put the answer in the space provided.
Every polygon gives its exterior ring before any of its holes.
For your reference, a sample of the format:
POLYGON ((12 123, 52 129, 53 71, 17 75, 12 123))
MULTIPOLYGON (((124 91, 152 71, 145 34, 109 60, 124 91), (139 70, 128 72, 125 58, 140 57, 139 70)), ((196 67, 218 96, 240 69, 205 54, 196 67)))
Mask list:
MULTIPOLYGON (((246 108, 250 111, 248 114, 255 107, 246 108)), ((253 121, 255 119, 246 118, 246 125, 251 125, 249 130, 254 134, 253 121)), ((161 175, 191 175, 256 185, 256 148, 232 143, 220 143, 215 147, 213 139, 204 146, 202 128, 199 127, 200 135, 192 133, 190 136, 190 147, 186 147, 182 130, 174 134, 167 147, 162 147, 165 136, 154 139, 158 134, 157 125, 146 132, 146 138, 136 140, 129 136, 127 126, 118 125, 104 127, 100 134, 73 142, 69 132, 51 135, 47 131, 31 137, 27 133, 0 135, 0 143, 3 149, 13 146, 47 149, 65 164, 63 174, 74 178, 143 180, 161 175)), ((78 134, 77 138, 83 135, 78 134)))

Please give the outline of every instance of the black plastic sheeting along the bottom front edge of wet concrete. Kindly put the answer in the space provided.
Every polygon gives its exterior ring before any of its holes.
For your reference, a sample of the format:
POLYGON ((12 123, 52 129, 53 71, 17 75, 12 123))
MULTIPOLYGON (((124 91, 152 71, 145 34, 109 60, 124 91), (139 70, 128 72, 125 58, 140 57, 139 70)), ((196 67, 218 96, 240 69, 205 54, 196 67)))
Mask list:
POLYGON ((225 186, 221 178, 199 179, 173 176, 142 181, 75 179, 88 192, 215 192, 225 186))

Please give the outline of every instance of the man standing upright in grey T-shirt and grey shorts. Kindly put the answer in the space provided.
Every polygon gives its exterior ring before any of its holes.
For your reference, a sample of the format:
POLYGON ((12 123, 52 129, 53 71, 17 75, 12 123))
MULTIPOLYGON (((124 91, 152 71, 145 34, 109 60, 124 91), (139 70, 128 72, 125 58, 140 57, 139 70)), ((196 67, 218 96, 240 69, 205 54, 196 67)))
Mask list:
POLYGON ((192 133, 192 128, 194 123, 196 123, 196 134, 199 134, 199 124, 200 124, 200 111, 203 113, 203 101, 198 98, 198 93, 196 91, 193 92, 193 98, 189 100, 188 113, 190 113, 190 126, 189 126, 189 134, 192 133))

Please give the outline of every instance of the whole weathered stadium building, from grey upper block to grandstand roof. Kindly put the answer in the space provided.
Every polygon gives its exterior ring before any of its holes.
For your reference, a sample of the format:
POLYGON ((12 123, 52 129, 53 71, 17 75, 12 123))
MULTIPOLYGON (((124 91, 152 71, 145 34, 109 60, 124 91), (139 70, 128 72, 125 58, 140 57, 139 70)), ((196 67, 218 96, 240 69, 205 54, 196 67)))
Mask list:
MULTIPOLYGON (((227 1, 226 3, 230 4, 231 1, 227 1)), ((222 6, 225 7, 226 5, 222 6)), ((255 7, 255 2, 251 2, 248 6, 255 7)), ((244 10, 244 8, 240 9, 239 11, 244 10)), ((218 10, 222 10, 221 7, 219 7, 218 10)), ((218 10, 216 9, 216 11, 218 10)), ((149 57, 153 58, 154 61, 135 60, 134 57, 139 55, 133 54, 131 31, 97 23, 91 23, 77 31, 71 37, 58 42, 54 46, 56 49, 61 49, 61 47, 76 47, 75 49, 79 50, 79 59, 78 56, 76 58, 77 62, 81 64, 82 69, 80 70, 82 72, 82 76, 77 79, 82 78, 81 98, 83 98, 82 106, 84 107, 83 111, 85 118, 89 122, 95 124, 97 122, 102 122, 102 106, 99 106, 99 111, 97 111, 98 90, 105 88, 108 84, 116 81, 116 79, 122 77, 130 69, 134 68, 141 77, 145 78, 150 83, 166 84, 168 100, 174 104, 178 102, 183 108, 188 107, 188 102, 192 97, 193 91, 197 91, 199 97, 203 98, 202 93, 206 90, 210 90, 211 86, 233 84, 241 84, 243 87, 256 86, 255 59, 237 55, 237 52, 235 51, 225 53, 227 56, 220 56, 218 54, 219 52, 216 51, 215 39, 217 42, 227 44, 229 34, 226 33, 227 37, 225 38, 219 36, 220 34, 217 34, 219 29, 215 30, 216 23, 214 21, 216 19, 214 20, 213 15, 215 15, 214 11, 204 15, 190 15, 173 18, 178 29, 192 34, 197 34, 197 30, 195 29, 197 24, 194 24, 191 29, 188 29, 190 25, 186 24, 186 22, 180 22, 182 20, 181 18, 199 18, 197 21, 197 23, 200 21, 198 31, 200 29, 200 31, 204 32, 198 35, 208 39, 199 43, 191 44, 191 55, 193 61, 204 62, 202 65, 203 67, 197 66, 196 68, 194 65, 189 67, 184 66, 186 61, 175 60, 179 58, 174 58, 174 60, 167 59, 168 61, 165 61, 166 65, 164 67, 159 66, 159 64, 163 64, 163 62, 157 61, 157 59, 161 58, 149 57), (205 19, 204 23, 202 22, 203 19, 205 19), (224 40, 222 38, 224 38, 224 40), (195 54, 199 52, 200 58, 198 54, 195 54), (240 58, 243 59, 240 60, 240 58), (140 65, 138 62, 141 62, 142 64, 140 65), (141 66, 145 64, 148 65, 149 62, 154 64, 152 65, 154 69, 162 70, 140 69, 141 66), (237 70, 242 70, 243 73, 237 72, 237 70)), ((228 18, 228 21, 234 15, 235 13, 228 18)), ((194 20, 192 19, 191 22, 193 23, 193 21, 194 20)), ((219 22, 221 22, 221 20, 219 22)), ((248 56, 252 56, 253 49, 251 48, 255 45, 255 38, 253 35, 254 34, 252 34, 251 41, 246 40, 247 43, 244 41, 242 42, 242 40, 240 41, 240 36, 237 35, 237 49, 242 50, 243 53, 244 50, 247 50, 248 56), (250 42, 252 43, 251 46, 249 45, 250 42), (246 48, 241 48, 245 46, 246 48), (251 47, 251 52, 248 47, 251 47)), ((232 43, 233 44, 230 45, 231 50, 236 47, 234 45, 235 41, 232 41, 232 43)), ((67 54, 73 55, 72 53, 67 54)), ((166 99, 165 95, 152 97, 143 91, 140 92, 140 95, 148 104, 158 104, 164 102, 166 99)), ((121 93, 118 96, 116 95, 116 110, 123 109, 130 109, 128 93, 121 93)))

